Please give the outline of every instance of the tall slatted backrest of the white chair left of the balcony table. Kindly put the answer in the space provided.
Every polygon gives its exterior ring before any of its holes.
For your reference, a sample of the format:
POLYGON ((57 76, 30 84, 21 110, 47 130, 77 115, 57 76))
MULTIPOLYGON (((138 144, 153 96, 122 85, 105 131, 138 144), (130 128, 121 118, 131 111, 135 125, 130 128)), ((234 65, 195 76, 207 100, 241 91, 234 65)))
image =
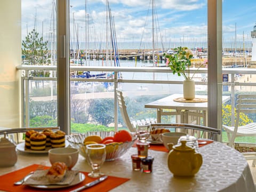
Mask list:
POLYGON ((117 94, 118 106, 119 106, 119 109, 120 109, 120 113, 121 113, 121 115, 123 117, 124 123, 126 124, 127 128, 131 132, 135 132, 135 129, 132 126, 130 118, 129 118, 128 114, 127 114, 126 105, 125 105, 125 101, 124 101, 124 97, 123 97, 123 92, 120 91, 120 90, 116 90, 116 94, 117 94))

